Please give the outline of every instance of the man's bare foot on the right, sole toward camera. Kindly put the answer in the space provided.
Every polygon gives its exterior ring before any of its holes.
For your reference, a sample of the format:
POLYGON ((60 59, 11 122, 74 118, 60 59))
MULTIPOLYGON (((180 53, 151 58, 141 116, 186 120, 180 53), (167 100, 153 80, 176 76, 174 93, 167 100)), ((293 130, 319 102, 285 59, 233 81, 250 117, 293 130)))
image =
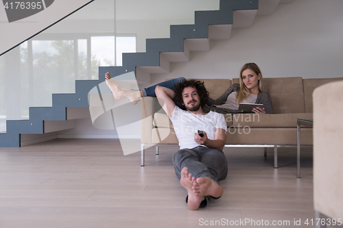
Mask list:
POLYGON ((196 179, 196 184, 193 184, 193 193, 200 197, 222 197, 224 192, 222 186, 217 182, 213 181, 209 177, 198 177, 196 179))

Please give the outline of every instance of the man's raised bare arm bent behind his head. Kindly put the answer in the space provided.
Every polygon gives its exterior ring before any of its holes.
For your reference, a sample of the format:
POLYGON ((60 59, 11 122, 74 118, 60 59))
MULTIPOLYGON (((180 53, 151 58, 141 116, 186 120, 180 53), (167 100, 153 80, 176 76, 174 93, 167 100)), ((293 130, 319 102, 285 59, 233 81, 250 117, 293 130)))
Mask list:
POLYGON ((158 103, 162 106, 163 110, 167 113, 169 118, 173 116, 175 103, 173 101, 174 90, 163 86, 156 86, 155 88, 156 97, 158 98, 158 103))

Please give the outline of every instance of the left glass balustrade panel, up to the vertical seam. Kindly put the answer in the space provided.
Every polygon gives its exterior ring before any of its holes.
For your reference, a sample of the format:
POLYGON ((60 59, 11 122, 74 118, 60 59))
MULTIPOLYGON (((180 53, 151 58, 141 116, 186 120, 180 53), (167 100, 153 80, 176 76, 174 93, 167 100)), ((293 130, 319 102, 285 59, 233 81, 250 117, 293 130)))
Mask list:
POLYGON ((93 1, 1 55, 0 132, 6 120, 28 119, 29 107, 51 107, 52 94, 74 93, 75 80, 98 79, 99 66, 113 66, 114 25, 114 1, 93 1))

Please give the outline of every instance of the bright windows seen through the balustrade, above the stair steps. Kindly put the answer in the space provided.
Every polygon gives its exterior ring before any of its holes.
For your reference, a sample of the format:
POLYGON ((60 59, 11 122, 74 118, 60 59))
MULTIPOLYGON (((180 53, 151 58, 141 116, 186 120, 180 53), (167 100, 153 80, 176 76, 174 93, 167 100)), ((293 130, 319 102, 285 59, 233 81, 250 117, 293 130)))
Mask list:
POLYGON ((0 56, 0 132, 6 120, 28 119, 29 107, 51 107, 52 94, 75 92, 75 80, 98 79, 99 66, 121 66, 121 54, 136 51, 135 36, 75 36, 41 34, 0 56))

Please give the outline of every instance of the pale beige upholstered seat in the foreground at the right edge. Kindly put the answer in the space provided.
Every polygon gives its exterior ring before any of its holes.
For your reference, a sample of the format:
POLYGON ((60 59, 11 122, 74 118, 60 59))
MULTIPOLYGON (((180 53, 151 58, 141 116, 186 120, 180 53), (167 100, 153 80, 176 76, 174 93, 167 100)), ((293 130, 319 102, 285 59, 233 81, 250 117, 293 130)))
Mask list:
POLYGON ((343 218, 343 81, 314 90, 314 209, 343 218))

